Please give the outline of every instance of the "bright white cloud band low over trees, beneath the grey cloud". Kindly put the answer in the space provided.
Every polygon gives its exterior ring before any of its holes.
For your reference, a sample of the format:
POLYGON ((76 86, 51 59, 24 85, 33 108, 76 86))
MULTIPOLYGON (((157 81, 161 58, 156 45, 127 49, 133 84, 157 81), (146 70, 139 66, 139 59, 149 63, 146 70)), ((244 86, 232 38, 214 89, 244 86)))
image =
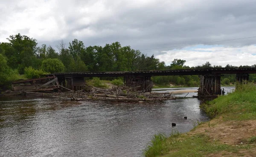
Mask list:
POLYGON ((232 64, 253 65, 256 64, 256 45, 243 46, 241 48, 191 48, 189 50, 169 50, 162 55, 155 56, 164 61, 166 65, 171 64, 174 59, 186 60, 185 65, 197 66, 210 62, 212 65, 226 66, 232 64))

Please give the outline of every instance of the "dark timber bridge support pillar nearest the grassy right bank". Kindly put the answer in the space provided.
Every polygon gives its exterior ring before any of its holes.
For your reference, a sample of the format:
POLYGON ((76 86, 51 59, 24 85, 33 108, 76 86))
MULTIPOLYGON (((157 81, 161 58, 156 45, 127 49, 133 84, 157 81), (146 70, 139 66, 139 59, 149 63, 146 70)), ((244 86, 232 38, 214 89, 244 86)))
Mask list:
POLYGON ((220 95, 221 75, 201 75, 198 96, 220 95))

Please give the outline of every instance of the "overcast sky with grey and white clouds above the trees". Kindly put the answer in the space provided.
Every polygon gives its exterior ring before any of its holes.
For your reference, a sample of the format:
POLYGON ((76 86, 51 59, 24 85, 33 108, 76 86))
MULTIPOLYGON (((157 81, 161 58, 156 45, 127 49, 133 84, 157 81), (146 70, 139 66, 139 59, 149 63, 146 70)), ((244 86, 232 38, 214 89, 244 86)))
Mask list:
POLYGON ((118 41, 166 65, 256 64, 256 37, 238 39, 256 36, 255 0, 0 0, 0 15, 0 42, 17 33, 39 45, 118 41), (238 40, 215 42, 229 39, 238 40))

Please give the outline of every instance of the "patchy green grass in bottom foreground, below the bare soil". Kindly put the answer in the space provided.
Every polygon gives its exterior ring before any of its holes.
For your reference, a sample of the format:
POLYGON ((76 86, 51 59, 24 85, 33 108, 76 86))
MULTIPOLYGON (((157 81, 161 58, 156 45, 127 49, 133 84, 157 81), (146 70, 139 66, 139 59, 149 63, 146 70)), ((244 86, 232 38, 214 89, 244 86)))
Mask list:
POLYGON ((240 149, 248 149, 248 147, 250 146, 222 144, 204 134, 195 136, 174 134, 167 138, 165 134, 158 133, 153 136, 144 155, 145 157, 202 157, 221 151, 238 153, 240 149))

